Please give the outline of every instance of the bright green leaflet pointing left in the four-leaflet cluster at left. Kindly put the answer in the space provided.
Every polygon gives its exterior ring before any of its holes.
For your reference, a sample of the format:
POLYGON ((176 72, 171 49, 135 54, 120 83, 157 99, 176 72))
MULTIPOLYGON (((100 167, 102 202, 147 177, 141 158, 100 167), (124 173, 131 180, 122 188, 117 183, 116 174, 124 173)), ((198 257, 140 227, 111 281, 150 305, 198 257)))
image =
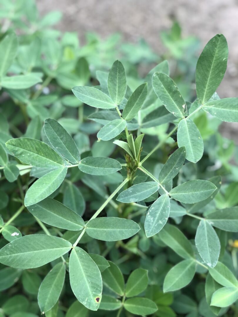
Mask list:
POLYGON ((10 154, 25 164, 43 168, 59 168, 64 164, 60 155, 42 141, 19 138, 6 142, 10 154))

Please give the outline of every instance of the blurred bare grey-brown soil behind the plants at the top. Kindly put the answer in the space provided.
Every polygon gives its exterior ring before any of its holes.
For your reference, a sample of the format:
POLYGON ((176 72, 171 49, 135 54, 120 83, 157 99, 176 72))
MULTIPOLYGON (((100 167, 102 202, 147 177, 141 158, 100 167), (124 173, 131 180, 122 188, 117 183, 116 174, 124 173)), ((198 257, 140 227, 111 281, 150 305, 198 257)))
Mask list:
MULTIPOLYGON (((163 52, 159 32, 169 29, 173 19, 182 26, 184 36, 195 35, 202 41, 201 50, 210 38, 222 33, 229 58, 218 94, 238 97, 238 0, 38 0, 37 6, 42 14, 62 11, 57 27, 77 31, 81 42, 87 31, 102 37, 120 32, 130 42, 144 38, 159 54, 163 52)), ((237 123, 225 124, 222 130, 224 136, 238 139, 237 123)))

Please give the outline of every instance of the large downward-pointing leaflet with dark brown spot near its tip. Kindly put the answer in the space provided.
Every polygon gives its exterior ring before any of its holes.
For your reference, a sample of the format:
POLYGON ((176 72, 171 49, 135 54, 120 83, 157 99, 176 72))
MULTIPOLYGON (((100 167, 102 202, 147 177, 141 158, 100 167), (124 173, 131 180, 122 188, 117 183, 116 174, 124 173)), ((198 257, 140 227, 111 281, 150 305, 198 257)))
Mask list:
POLYGON ((102 299, 102 277, 92 258, 79 247, 69 257, 69 279, 73 293, 80 303, 97 310, 102 299))

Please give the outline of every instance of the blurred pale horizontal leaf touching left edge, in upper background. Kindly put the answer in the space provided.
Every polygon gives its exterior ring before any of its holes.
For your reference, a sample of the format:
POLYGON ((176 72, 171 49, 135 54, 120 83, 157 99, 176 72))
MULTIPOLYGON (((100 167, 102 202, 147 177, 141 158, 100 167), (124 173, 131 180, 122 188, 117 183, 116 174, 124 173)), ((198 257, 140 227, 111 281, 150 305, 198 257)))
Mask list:
POLYGON ((0 85, 9 89, 26 89, 42 82, 41 78, 34 74, 15 75, 2 77, 0 85))

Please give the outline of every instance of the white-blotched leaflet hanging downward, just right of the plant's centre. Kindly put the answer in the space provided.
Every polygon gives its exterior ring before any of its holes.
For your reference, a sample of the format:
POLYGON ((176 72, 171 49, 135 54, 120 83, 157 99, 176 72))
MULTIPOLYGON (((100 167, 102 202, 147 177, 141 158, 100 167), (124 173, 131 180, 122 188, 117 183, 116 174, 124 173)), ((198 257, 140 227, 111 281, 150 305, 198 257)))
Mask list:
POLYGON ((160 196, 150 206, 145 219, 145 234, 149 238, 158 233, 167 223, 170 211, 169 196, 160 196))

